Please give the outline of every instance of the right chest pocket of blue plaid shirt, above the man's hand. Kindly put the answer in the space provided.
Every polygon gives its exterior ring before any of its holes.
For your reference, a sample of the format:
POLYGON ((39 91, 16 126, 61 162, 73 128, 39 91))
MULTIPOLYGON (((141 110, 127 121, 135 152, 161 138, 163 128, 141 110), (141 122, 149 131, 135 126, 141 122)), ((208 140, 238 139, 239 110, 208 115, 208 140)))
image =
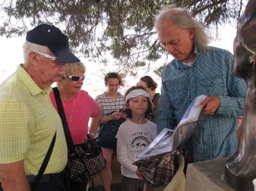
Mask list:
POLYGON ((227 92, 225 82, 220 78, 200 80, 199 90, 201 91, 201 94, 206 96, 225 96, 225 93, 227 92))

